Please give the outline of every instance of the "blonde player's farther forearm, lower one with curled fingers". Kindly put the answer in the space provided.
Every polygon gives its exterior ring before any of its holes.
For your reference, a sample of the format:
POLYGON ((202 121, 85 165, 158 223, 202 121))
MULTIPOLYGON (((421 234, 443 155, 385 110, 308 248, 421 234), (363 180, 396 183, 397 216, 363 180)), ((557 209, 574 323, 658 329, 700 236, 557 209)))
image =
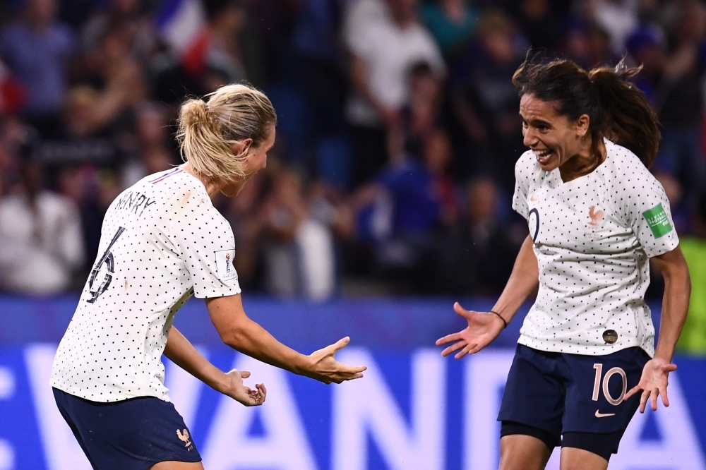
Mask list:
POLYGON ((256 390, 251 390, 243 384, 243 379, 248 378, 250 373, 246 370, 231 370, 224 373, 219 368, 199 353, 195 347, 181 334, 176 327, 172 326, 167 337, 167 347, 164 348, 164 356, 169 361, 177 364, 194 377, 201 380, 213 390, 228 395, 246 406, 260 405, 265 402, 267 390, 263 384, 256 385, 256 390))

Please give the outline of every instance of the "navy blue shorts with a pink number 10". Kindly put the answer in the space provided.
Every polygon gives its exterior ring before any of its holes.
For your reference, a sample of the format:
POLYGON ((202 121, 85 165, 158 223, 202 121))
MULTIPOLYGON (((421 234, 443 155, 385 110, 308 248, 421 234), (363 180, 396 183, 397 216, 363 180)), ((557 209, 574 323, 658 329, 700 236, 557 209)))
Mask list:
POLYGON ((623 396, 638 385, 649 360, 638 347, 605 356, 582 356, 517 344, 498 421, 544 431, 550 438, 542 440, 550 449, 562 444, 561 436, 566 433, 572 441, 574 433, 610 435, 610 452, 615 453, 640 405, 640 394, 628 400, 623 396))

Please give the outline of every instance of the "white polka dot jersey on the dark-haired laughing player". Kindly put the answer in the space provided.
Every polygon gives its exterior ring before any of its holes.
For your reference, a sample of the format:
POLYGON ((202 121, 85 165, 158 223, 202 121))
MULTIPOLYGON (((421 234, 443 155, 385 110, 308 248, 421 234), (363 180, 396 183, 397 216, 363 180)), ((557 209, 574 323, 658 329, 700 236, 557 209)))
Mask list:
POLYGON ((539 265, 519 342, 589 356, 640 347, 653 356, 648 261, 679 240, 662 185, 633 152, 605 143, 606 160, 566 183, 532 151, 515 165, 513 209, 527 219, 539 265))

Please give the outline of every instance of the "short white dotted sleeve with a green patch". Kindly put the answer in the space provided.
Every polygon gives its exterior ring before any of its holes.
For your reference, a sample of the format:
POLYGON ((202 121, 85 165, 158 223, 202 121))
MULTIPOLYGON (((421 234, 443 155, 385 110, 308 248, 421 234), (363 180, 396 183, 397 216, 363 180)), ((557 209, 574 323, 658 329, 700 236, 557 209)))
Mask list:
POLYGON ((623 181, 623 217, 650 258, 674 250, 679 237, 664 188, 647 169, 623 181))

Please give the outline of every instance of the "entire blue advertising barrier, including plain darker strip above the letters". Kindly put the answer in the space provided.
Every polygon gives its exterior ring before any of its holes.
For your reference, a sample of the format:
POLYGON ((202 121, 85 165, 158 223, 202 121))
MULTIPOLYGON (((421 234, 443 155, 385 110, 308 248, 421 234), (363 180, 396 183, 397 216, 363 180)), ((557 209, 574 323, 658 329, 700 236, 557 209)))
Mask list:
MULTIPOLYGON (((174 324, 219 368, 249 370, 249 385, 268 388, 263 406, 246 408, 165 360, 169 395, 205 469, 496 469, 496 415, 529 306, 492 348, 455 361, 433 347, 436 338, 465 326, 453 300, 246 296, 251 318, 302 352, 352 337, 337 358, 368 366, 365 377, 323 385, 228 349, 203 301, 191 299, 174 324)), ((0 296, 0 470, 90 469, 49 387, 54 351, 77 301, 0 296)), ((461 303, 487 311, 492 301, 461 303)), ((659 306, 652 308, 658 323, 659 306)), ((633 418, 611 469, 706 470, 706 360, 675 362, 671 406, 633 418)), ((558 470, 558 452, 547 468, 558 470)))

